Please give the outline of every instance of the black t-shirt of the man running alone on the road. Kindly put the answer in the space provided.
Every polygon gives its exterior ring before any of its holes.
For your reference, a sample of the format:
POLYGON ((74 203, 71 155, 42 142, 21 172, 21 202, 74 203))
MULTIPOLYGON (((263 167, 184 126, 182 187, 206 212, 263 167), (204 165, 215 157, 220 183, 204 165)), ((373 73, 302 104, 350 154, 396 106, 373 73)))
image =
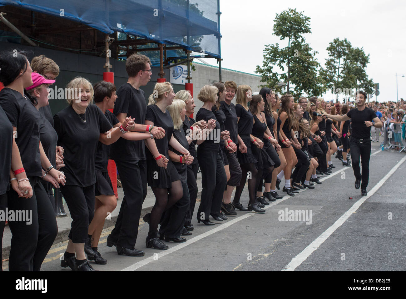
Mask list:
POLYGON ((352 132, 351 136, 355 139, 368 139, 371 136, 371 127, 367 127, 365 121, 372 121, 376 118, 376 113, 371 108, 365 107, 364 110, 351 109, 347 112, 351 118, 352 132))

